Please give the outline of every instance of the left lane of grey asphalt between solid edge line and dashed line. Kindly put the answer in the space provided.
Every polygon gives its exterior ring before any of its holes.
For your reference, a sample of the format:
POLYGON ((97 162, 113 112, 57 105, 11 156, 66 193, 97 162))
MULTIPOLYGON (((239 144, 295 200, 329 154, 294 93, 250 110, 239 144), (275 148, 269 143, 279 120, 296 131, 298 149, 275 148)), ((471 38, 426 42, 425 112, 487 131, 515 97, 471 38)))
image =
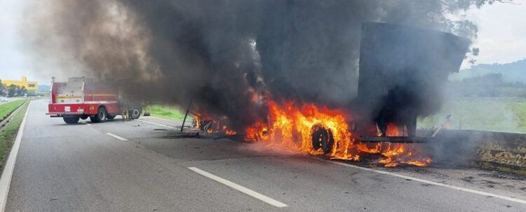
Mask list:
POLYGON ((29 109, 6 211, 273 209, 169 157, 45 112, 45 101, 29 109))

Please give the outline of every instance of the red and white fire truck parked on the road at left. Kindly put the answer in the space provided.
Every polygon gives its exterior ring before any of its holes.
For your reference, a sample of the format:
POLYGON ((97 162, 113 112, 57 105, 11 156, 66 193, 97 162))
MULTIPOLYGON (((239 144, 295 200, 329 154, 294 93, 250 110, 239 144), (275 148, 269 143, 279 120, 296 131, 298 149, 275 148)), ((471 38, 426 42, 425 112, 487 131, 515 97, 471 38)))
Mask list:
POLYGON ((51 84, 48 115, 62 117, 67 124, 90 118, 99 123, 114 119, 127 110, 130 119, 138 119, 142 107, 123 100, 113 81, 95 81, 86 77, 71 77, 51 84))

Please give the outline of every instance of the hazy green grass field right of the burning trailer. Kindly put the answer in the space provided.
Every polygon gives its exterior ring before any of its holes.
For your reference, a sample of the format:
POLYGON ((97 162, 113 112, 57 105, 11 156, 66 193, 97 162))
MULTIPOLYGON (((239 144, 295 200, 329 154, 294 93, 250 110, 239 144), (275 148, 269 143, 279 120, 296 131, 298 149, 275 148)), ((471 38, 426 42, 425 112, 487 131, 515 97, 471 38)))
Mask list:
POLYGON ((438 114, 420 118, 418 128, 439 126, 447 114, 453 129, 526 133, 526 98, 452 98, 438 114))

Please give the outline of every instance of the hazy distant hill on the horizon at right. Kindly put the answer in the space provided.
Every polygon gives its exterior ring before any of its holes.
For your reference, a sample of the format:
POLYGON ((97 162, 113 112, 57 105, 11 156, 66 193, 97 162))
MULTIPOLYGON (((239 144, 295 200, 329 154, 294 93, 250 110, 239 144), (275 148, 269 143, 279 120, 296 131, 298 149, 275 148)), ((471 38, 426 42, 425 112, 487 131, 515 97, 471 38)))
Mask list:
POLYGON ((461 69, 459 73, 450 75, 450 81, 483 77, 486 74, 502 74, 502 79, 506 82, 526 83, 526 59, 504 64, 479 64, 468 69, 461 69))

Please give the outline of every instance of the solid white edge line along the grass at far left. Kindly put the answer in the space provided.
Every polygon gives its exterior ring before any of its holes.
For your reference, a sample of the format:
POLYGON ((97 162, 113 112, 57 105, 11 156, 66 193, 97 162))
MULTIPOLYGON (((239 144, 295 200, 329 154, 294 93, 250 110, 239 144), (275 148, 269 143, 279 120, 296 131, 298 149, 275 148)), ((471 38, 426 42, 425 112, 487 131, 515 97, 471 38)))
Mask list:
MULTIPOLYGON (((23 105, 22 105, 23 107, 23 105)), ((11 153, 6 161, 6 166, 4 167, 4 172, 0 178, 0 211, 4 212, 6 210, 7 196, 9 194, 9 188, 11 187, 11 178, 13 177, 13 171, 15 170, 16 157, 18 155, 18 149, 20 148, 20 141, 22 140, 22 135, 24 135, 25 120, 27 119, 27 113, 31 107, 31 101, 27 105, 27 110, 25 111, 24 119, 20 123, 20 128, 18 128, 18 133, 15 138, 15 143, 11 148, 11 153)))

